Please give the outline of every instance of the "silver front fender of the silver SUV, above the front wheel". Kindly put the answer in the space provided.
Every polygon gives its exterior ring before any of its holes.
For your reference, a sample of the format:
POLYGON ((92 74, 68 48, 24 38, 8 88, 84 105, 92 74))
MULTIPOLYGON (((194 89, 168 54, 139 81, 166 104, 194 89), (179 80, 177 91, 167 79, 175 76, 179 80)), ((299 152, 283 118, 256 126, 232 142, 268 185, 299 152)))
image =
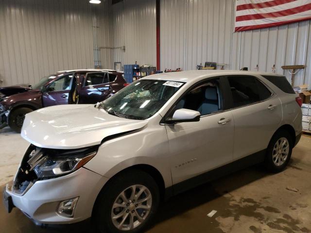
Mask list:
POLYGON ((150 165, 162 175, 165 187, 172 185, 168 138, 164 126, 142 130, 103 143, 85 167, 107 178, 134 165, 150 165))

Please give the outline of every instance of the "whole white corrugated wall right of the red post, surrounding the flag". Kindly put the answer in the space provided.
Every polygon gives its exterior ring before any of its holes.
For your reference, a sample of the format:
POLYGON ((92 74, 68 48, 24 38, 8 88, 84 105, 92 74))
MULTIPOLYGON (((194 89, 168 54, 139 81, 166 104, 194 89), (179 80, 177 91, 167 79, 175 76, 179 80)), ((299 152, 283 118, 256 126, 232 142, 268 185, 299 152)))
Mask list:
POLYGON ((225 69, 276 72, 283 65, 306 65, 295 85, 311 88, 310 20, 269 29, 233 33, 235 0, 161 0, 161 69, 195 69, 205 62, 225 69))

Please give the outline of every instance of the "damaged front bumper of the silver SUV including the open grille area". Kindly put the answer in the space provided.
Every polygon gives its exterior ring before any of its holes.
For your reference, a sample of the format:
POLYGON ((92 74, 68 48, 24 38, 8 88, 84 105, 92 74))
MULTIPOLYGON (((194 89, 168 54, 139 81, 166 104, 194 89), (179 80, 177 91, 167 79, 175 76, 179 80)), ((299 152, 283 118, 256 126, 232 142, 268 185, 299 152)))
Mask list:
MULTIPOLYGON (((26 155, 28 152, 29 149, 26 155)), ((8 212, 17 207, 36 224, 69 224, 91 217, 95 200, 108 178, 81 167, 68 175, 40 180, 25 168, 24 161, 29 159, 26 155, 14 182, 4 190, 3 202, 8 212), (59 213, 61 203, 68 200, 77 200, 72 217, 59 213)))

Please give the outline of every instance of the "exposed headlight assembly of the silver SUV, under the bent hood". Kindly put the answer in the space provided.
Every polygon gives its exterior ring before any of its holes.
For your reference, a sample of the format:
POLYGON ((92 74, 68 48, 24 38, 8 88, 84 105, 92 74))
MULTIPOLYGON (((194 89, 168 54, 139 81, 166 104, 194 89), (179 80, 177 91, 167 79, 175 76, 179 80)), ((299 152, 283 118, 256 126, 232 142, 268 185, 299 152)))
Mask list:
POLYGON ((98 146, 76 150, 36 148, 27 163, 39 179, 63 176, 78 170, 97 153, 98 146))

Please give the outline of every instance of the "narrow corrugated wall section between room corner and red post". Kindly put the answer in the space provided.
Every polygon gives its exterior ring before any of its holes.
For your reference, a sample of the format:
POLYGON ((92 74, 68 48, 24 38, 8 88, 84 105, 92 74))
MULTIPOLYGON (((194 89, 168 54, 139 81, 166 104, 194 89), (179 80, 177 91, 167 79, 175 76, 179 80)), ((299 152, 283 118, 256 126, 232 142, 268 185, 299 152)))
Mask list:
POLYGON ((114 61, 156 65, 155 0, 124 0, 113 5, 114 61), (122 50, 125 46, 125 51, 122 50))

